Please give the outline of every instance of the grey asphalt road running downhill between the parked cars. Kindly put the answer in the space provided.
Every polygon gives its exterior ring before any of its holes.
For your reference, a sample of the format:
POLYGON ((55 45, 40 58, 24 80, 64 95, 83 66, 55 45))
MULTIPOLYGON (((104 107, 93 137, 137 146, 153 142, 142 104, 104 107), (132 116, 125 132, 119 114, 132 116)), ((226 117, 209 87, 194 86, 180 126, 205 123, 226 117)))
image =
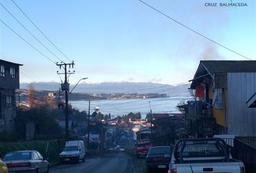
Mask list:
POLYGON ((50 173, 133 173, 132 158, 122 151, 97 151, 84 162, 61 164, 50 173))

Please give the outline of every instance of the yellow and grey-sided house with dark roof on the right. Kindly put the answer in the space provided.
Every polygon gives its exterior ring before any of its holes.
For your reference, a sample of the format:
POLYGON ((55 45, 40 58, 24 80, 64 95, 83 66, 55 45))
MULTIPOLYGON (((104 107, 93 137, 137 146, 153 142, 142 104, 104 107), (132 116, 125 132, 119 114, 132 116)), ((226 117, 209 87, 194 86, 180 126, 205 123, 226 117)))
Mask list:
POLYGON ((247 106, 255 101, 256 61, 200 61, 191 81, 197 100, 183 107, 190 135, 256 136, 256 109, 247 106))

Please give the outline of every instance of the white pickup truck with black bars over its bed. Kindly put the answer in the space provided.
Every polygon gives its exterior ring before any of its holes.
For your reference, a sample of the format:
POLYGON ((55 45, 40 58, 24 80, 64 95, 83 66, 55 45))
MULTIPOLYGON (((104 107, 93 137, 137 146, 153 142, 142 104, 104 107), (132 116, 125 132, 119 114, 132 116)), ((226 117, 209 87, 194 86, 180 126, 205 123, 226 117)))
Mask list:
POLYGON ((182 139, 174 146, 168 173, 245 173, 221 138, 182 139))

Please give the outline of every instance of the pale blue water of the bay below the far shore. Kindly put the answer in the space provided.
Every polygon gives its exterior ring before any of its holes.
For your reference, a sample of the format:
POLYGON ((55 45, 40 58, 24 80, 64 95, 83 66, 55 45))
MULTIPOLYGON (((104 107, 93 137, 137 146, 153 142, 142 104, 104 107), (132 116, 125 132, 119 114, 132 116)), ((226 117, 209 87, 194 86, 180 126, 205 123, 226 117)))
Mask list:
MULTIPOLYGON (((99 107, 103 115, 111 114, 111 117, 118 115, 127 115, 129 112, 140 112, 142 118, 150 112, 150 107, 153 113, 177 113, 179 110, 176 106, 182 100, 189 100, 189 97, 166 97, 152 99, 103 99, 90 101, 90 114, 96 106, 99 107)), ((88 101, 70 101, 72 107, 77 110, 88 112, 88 101)))

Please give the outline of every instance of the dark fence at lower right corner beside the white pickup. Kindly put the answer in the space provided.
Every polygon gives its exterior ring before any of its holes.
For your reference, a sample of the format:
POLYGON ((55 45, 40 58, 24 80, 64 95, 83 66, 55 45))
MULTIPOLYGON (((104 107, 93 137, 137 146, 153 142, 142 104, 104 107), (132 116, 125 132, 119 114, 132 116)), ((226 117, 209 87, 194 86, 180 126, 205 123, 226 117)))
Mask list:
POLYGON ((255 173, 256 170, 256 138, 235 138, 234 148, 231 153, 234 159, 244 162, 247 173, 255 173))

